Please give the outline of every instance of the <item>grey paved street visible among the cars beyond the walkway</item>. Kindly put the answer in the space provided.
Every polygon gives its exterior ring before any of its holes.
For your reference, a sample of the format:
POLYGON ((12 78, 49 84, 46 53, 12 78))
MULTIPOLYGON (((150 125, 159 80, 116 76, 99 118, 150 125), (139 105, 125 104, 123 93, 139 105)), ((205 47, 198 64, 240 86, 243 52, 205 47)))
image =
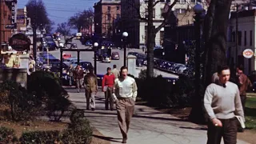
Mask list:
MULTIPOLYGON (((78 49, 86 49, 89 48, 88 46, 84 46, 81 44, 80 41, 78 40, 73 40, 74 43, 77 44, 78 49)), ((118 69, 123 66, 123 50, 112 50, 112 51, 117 51, 119 53, 119 60, 112 60, 110 63, 102 63, 102 62, 97 62, 97 74, 105 74, 106 73, 106 68, 107 67, 113 67, 113 65, 117 65, 118 69)), ((137 51, 139 50, 127 50, 127 54, 130 51, 137 51)), ((72 54, 72 57, 77 57, 77 52, 65 52, 66 54, 72 54)), ((50 54, 53 54, 54 57, 60 58, 60 51, 59 50, 54 50, 50 51, 50 54)), ((83 61, 91 62, 94 66, 94 52, 80 52, 80 59, 83 61)), ((138 73, 140 72, 142 68, 138 68, 138 73)), ((145 69, 145 67, 143 68, 145 69)), ((161 74, 163 77, 170 77, 170 78, 178 78, 177 75, 175 74, 168 74, 165 72, 162 72, 160 70, 154 70, 156 75, 161 74)))

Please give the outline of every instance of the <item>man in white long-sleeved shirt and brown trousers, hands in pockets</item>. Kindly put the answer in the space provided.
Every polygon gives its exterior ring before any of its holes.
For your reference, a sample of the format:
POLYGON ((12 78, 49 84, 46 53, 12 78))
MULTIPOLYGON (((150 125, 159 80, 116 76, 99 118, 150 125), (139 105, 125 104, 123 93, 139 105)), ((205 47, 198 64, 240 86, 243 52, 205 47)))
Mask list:
POLYGON ((134 114, 137 85, 135 79, 127 75, 126 66, 122 66, 120 71, 121 76, 114 80, 113 96, 118 111, 118 125, 122 133, 122 143, 126 143, 130 119, 134 114))

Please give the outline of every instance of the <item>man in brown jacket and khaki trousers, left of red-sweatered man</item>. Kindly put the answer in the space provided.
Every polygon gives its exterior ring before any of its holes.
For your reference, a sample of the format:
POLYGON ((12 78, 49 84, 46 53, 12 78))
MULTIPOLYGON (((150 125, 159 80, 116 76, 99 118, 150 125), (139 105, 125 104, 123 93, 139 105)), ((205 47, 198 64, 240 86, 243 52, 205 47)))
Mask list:
POLYGON ((98 80, 97 76, 94 74, 94 69, 89 68, 89 73, 87 73, 83 79, 84 87, 86 90, 86 110, 95 110, 95 95, 98 91, 98 80))

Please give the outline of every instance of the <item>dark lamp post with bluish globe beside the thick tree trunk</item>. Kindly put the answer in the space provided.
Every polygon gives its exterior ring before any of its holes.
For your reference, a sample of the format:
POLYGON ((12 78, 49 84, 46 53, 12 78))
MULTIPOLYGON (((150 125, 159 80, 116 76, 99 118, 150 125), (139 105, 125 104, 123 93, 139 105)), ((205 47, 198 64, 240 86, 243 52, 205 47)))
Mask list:
POLYGON ((195 95, 200 94, 200 50, 201 50, 201 18, 202 18, 203 8, 200 4, 194 6, 194 34, 196 38, 195 47, 195 95))

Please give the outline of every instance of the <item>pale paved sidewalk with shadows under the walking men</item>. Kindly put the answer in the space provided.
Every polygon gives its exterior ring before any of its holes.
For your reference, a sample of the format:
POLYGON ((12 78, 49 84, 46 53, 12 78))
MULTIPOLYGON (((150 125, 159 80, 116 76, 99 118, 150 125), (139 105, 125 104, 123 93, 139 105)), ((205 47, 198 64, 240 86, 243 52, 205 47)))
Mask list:
MULTIPOLYGON (((86 109, 84 91, 77 93, 74 88, 66 89, 70 100, 78 109, 86 109)), ((118 127, 116 111, 104 110, 104 96, 98 92, 96 110, 86 110, 86 118, 111 143, 121 143, 122 135, 118 127)), ((97 136, 95 136, 97 137, 97 136)), ((206 129, 191 122, 184 122, 170 114, 164 114, 148 106, 135 106, 130 123, 128 144, 205 144, 206 129)), ((246 142, 238 141, 238 144, 246 142)))

